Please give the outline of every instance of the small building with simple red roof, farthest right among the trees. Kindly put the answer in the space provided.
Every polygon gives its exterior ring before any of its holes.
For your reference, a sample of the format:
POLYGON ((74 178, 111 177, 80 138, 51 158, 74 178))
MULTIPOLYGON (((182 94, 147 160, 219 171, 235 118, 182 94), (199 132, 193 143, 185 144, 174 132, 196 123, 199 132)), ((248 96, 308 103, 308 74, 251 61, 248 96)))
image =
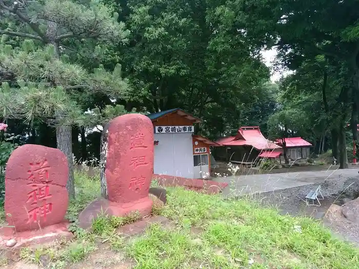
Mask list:
MULTIPOLYGON (((302 137, 285 138, 287 155, 289 159, 306 159, 310 157, 312 144, 302 137)), ((283 147, 282 138, 276 139, 276 143, 283 147)))

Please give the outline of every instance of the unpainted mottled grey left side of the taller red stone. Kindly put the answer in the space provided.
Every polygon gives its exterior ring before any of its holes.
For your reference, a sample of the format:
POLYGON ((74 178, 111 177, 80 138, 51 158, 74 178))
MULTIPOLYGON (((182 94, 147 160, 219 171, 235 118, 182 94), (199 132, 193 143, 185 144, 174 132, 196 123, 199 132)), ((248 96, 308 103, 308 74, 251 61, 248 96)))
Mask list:
POLYGON ((101 196, 105 199, 108 199, 107 191, 107 180, 106 180, 106 161, 107 161, 107 152, 108 152, 108 127, 110 122, 108 122, 101 135, 101 146, 100 146, 100 180, 101 180, 101 196))

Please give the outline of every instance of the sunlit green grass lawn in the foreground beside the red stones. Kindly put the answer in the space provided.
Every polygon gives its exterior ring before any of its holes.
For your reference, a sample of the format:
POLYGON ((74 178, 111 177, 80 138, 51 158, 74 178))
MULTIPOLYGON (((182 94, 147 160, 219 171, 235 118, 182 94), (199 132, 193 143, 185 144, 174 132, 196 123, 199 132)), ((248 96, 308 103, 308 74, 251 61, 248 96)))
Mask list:
MULTIPOLYGON (((71 220, 99 195, 99 180, 77 174, 76 192, 77 200, 69 206, 71 220)), ((74 222, 73 241, 23 249, 22 262, 39 268, 359 268, 359 249, 335 239, 320 223, 283 216, 251 201, 169 188, 167 205, 155 213, 171 223, 153 224, 130 240, 116 229, 136 216, 99 218, 92 233, 74 222)), ((2 263, 13 268, 13 262, 2 263)))

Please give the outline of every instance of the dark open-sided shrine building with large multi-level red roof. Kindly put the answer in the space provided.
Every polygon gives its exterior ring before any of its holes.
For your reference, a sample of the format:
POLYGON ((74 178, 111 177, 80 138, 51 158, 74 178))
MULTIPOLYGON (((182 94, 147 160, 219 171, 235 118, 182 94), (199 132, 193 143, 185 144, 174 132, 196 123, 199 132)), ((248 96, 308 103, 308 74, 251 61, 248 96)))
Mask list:
POLYGON ((252 164, 258 157, 278 157, 282 148, 266 139, 258 126, 241 127, 236 136, 223 137, 216 141, 215 157, 235 163, 252 164), (274 156, 275 155, 275 156, 274 156))

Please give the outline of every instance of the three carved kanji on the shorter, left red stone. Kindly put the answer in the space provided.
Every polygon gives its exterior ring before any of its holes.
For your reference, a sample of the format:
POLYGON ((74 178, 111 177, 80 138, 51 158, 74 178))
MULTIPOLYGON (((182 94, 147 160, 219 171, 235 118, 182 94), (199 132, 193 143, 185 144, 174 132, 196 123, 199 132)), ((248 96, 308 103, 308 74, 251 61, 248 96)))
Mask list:
POLYGON ((38 222, 40 218, 43 218, 46 221, 46 216, 52 212, 52 203, 46 203, 46 199, 52 197, 50 194, 50 185, 52 181, 49 181, 49 170, 50 166, 47 161, 29 163, 30 174, 28 180, 30 180, 27 185, 30 185, 32 191, 27 194, 27 204, 30 204, 32 207, 28 210, 30 222, 38 222), (42 205, 38 203, 42 202, 42 205), (35 208, 33 208, 35 206, 35 208))

